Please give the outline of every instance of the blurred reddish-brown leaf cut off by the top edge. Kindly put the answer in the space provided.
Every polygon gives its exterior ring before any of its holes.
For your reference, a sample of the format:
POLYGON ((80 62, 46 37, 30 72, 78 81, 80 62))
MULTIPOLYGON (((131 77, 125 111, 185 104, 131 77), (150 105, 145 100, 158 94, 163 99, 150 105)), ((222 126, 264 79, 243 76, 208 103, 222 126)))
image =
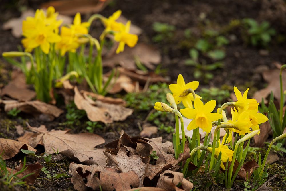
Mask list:
POLYGON ((55 7, 55 10, 63 15, 75 15, 77 12, 81 14, 98 13, 102 11, 109 3, 109 0, 60 0, 49 1, 43 3, 41 7, 55 7))

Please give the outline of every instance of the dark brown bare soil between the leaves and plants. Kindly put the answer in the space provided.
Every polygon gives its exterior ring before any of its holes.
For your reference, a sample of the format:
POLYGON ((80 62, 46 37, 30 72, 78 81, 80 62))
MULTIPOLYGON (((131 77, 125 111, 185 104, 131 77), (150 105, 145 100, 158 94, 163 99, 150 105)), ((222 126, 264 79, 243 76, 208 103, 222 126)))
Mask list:
MULTIPOLYGON (((29 0, 29 1, 8 1, 2 0, 0 7, 0 27, 3 23, 10 18, 19 17, 19 7, 26 6, 33 9, 37 9, 39 5, 45 1, 29 0), (16 5, 17 6, 13 6, 16 5), (7 5, 7 6, 2 6, 7 5), (8 7, 8 8, 7 8, 8 7)), ((286 5, 283 0, 240 0, 240 1, 228 1, 228 0, 205 0, 205 1, 151 1, 151 0, 120 0, 115 1, 112 6, 106 7, 102 14, 109 16, 114 11, 121 9, 122 14, 130 19, 133 24, 143 29, 143 34, 139 37, 139 41, 147 42, 156 46, 162 55, 162 68, 167 69, 167 76, 170 76, 171 80, 176 80, 179 73, 181 73, 186 81, 195 80, 193 77, 192 66, 185 66, 184 60, 189 58, 188 51, 193 42, 196 39, 202 37, 202 32, 208 28, 220 29, 229 25, 233 19, 254 18, 257 21, 267 20, 271 23, 271 26, 277 31, 277 36, 282 36, 285 39, 286 32, 286 5), (206 18, 202 21, 200 15, 206 15, 206 18), (176 31, 174 37, 168 41, 153 43, 152 37, 155 32, 152 29, 152 24, 155 22, 169 23, 175 25, 176 31), (191 39, 184 37, 184 30, 191 29, 191 39)), ((83 19, 87 19, 89 15, 83 15, 83 19)), ((101 27, 99 23, 94 23, 92 28, 101 27)), ((102 28, 102 27, 101 27, 102 28)), ((245 43, 241 38, 241 28, 234 28, 225 34, 227 38, 233 38, 225 47, 226 58, 224 59, 224 67, 214 71, 215 78, 208 83, 201 83, 201 87, 221 87, 223 85, 228 86, 251 86, 254 90, 261 89, 265 86, 265 81, 262 78, 261 72, 269 68, 274 68, 273 62, 280 62, 285 64, 286 61, 286 44, 285 41, 273 38, 273 41, 267 47, 253 47, 245 43), (267 54, 262 54, 261 50, 266 50, 267 54)), ((100 30, 98 30, 100 31, 100 30)), ((96 31, 91 31, 93 35, 98 35, 96 31)), ((282 38, 283 39, 283 38, 282 38)), ((11 31, 0 31, 0 52, 17 50, 17 45, 21 44, 20 38, 15 38, 11 35, 11 31)), ((265 51, 264 51, 265 52, 265 51)), ((7 64, 1 58, 1 73, 0 73, 0 87, 5 85, 9 81, 9 73, 12 67, 7 64)), ((199 80, 200 81, 200 80, 199 80)), ((65 109, 62 106, 61 109, 65 109)), ((101 135, 106 139, 106 142, 114 140, 119 137, 120 130, 123 129, 130 136, 138 136, 140 130, 138 128, 138 122, 142 123, 149 112, 135 110, 132 116, 128 117, 123 122, 116 122, 105 127, 104 131, 96 129, 94 133, 101 135)), ((51 129, 65 129, 60 125, 66 121, 65 114, 62 114, 59 118, 53 122, 44 122, 39 119, 35 119, 29 115, 20 114, 19 117, 11 118, 3 112, 3 107, 0 111, 0 137, 16 139, 19 135, 16 134, 14 125, 20 124, 25 126, 28 122, 31 126, 39 126, 45 124, 49 130, 51 129), (9 131, 7 132, 7 128, 9 131)), ((84 117, 80 120, 78 126, 71 129, 71 133, 78 133, 86 131, 84 117)), ((171 122, 173 124, 173 122, 171 122)), ((171 134, 158 131, 154 137, 163 136, 164 140, 171 140, 171 134)), ((43 148, 39 148, 39 153, 43 151, 43 148)), ((11 168, 19 164, 19 160, 23 159, 24 155, 16 155, 11 160, 7 160, 7 165, 11 168)), ((284 166, 286 155, 281 157, 281 160, 277 164, 284 166)), ((28 157, 28 162, 35 162, 34 158, 28 157)), ((69 163, 71 161, 67 157, 62 155, 53 155, 51 163, 43 161, 43 166, 48 170, 55 170, 57 173, 67 172, 69 169, 69 163)), ((275 170, 269 173, 269 178, 277 173, 275 170)), ((44 178, 44 174, 41 172, 40 178, 44 178)), ((284 180, 285 181, 285 180, 284 180)), ((243 182, 242 182, 243 184, 243 182)), ((274 190, 285 189, 285 183, 283 179, 277 177, 267 184, 270 187, 274 187, 274 190), (282 181, 282 183, 281 183, 282 181), (280 184, 278 184, 280 182, 280 184), (284 186, 284 188, 283 188, 284 186)), ((266 186, 267 186, 266 185, 266 186)), ((215 188, 212 186, 211 190, 222 190, 222 187, 215 188)), ((1 187, 1 185, 0 185, 1 187)), ((267 190, 266 188, 266 190, 267 190)), ((46 180, 37 180, 33 186, 25 188, 16 188, 16 190, 74 190, 70 180, 60 178, 55 182, 48 182, 46 180)), ((232 190, 240 190, 242 186, 240 183, 236 183, 232 190)))

